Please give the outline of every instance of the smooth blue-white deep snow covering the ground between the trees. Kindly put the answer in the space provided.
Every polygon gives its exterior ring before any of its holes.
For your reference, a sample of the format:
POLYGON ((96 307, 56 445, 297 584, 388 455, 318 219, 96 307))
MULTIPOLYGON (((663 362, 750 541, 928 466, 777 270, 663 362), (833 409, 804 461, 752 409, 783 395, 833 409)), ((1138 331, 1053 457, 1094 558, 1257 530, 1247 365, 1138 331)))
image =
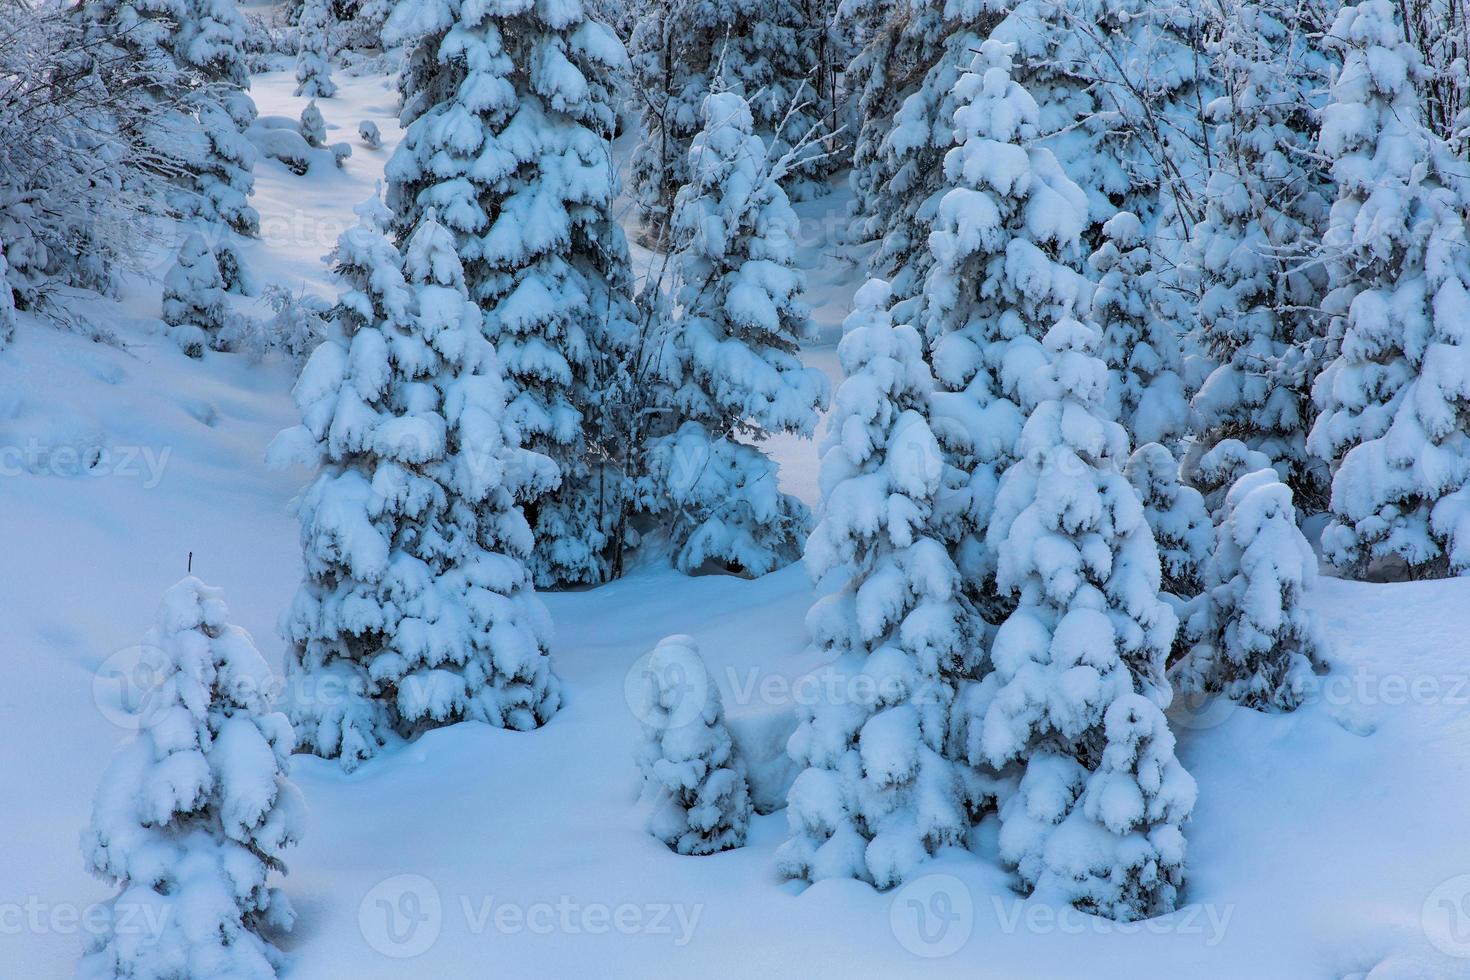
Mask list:
MULTIPOLYGON (((247 248, 263 282, 323 295, 319 257, 390 151, 360 145, 357 122, 397 138, 381 78, 338 81, 319 104, 354 156, 304 178, 262 163, 265 234, 247 248)), ((290 93, 284 73, 256 79, 262 115, 298 115, 290 93)), ((831 244, 842 203, 798 209, 822 329, 810 356, 829 373, 857 287, 831 244)), ((69 976, 85 940, 75 915, 107 895, 76 846, 125 736, 98 667, 126 663, 190 551, 278 666, 275 620, 300 574, 288 502, 309 475, 262 464, 295 420, 290 370, 182 357, 150 319, 156 282, 90 306, 125 348, 28 319, 0 353, 0 979, 69 976), (97 458, 87 473, 76 448, 97 458)), ((814 502, 814 447, 779 454, 814 502)), ((816 666, 810 601, 800 567, 744 582, 644 566, 547 597, 567 704, 544 730, 457 726, 353 776, 298 757, 310 823, 284 883, 301 915, 285 976, 1470 976, 1470 582, 1324 579, 1311 601, 1338 669, 1314 704, 1292 717, 1176 707, 1200 782, 1191 905, 1135 927, 1019 901, 992 824, 975 854, 886 895, 778 883, 781 813, 754 821, 747 848, 706 858, 642 833, 623 696, 638 657, 692 633, 732 717, 770 717, 810 693, 792 688, 816 666)))

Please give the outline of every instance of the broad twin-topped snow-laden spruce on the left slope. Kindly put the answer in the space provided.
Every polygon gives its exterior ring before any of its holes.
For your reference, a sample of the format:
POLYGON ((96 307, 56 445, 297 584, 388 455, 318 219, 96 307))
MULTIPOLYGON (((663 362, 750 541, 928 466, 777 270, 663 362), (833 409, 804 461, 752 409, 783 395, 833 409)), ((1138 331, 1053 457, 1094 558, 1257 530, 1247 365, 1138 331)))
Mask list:
POLYGON ((298 505, 287 677, 301 748, 344 768, 456 721, 534 729, 560 702, 513 497, 554 480, 550 463, 514 444, 450 232, 426 212, 400 270, 381 204, 359 213, 335 253, 337 332, 272 453, 322 463, 298 505))

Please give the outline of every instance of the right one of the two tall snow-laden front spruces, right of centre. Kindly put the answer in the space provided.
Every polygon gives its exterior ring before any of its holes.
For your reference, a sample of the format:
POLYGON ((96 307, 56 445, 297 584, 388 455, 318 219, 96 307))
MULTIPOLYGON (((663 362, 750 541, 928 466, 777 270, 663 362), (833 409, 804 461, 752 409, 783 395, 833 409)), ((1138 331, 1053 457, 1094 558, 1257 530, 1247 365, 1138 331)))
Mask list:
MULTIPOLYGON (((1173 755, 1164 660, 1177 621, 1138 492, 1117 472, 1098 331, 1061 319, 1032 372, 1035 408, 1001 479, 988 541, 1017 608, 991 648, 979 752, 1023 770, 1001 807, 1020 883, 1117 920, 1173 911, 1195 785, 1173 755)), ((973 735, 972 735, 973 738, 973 735)))

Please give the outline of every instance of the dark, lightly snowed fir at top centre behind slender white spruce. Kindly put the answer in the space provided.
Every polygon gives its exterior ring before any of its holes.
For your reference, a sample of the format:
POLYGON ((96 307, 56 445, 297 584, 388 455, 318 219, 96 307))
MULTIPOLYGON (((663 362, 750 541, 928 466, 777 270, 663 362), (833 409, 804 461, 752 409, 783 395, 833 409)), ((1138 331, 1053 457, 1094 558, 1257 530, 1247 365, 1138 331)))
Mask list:
POLYGON ((800 0, 641 4, 629 38, 639 106, 639 141, 629 166, 650 238, 663 241, 667 234, 711 91, 744 96, 778 156, 801 147, 785 175, 788 190, 804 192, 826 178, 833 165, 813 140, 831 129, 829 90, 817 84, 825 28, 813 24, 800 0))

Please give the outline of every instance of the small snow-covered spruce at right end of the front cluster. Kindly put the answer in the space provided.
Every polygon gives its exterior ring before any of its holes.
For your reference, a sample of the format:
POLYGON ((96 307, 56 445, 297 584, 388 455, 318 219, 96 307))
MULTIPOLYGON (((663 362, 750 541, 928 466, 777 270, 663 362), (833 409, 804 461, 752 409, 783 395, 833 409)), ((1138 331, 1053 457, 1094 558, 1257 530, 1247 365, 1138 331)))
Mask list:
POLYGON ((1223 692, 1261 711, 1291 711, 1327 648, 1305 607, 1317 555, 1297 529, 1291 488, 1276 470, 1235 482, 1189 623, 1194 648, 1176 670, 1180 691, 1223 692))

